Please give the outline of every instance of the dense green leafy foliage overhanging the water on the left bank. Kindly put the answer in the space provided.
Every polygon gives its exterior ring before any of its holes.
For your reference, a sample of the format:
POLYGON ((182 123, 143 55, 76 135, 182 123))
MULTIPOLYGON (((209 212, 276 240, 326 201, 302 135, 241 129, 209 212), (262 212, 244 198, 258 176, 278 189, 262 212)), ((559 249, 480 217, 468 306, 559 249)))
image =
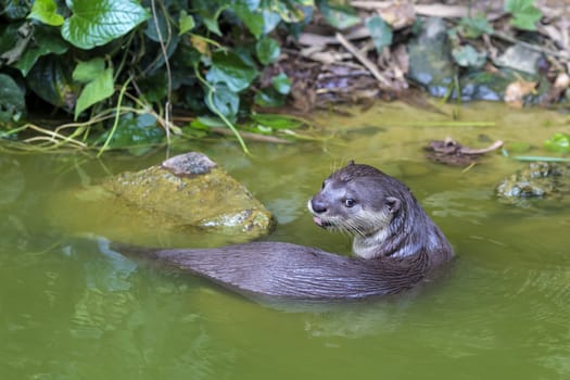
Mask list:
POLYGON ((312 5, 313 0, 0 0, 0 127, 12 135, 21 130, 26 97, 73 115, 80 126, 74 137, 104 148, 181 134, 172 123, 174 102, 237 134, 241 115, 255 105, 282 104, 289 93, 284 73, 274 69, 267 77, 264 71, 280 54, 278 26, 294 33, 311 18, 312 5), (162 135, 135 132, 148 129, 150 121, 163 127, 162 135))

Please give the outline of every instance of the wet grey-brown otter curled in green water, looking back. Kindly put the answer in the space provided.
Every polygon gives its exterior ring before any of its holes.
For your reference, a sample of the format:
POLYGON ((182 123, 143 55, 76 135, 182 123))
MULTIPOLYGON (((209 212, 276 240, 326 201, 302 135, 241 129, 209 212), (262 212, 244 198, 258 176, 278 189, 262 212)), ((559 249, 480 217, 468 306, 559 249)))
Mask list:
POLYGON ((454 256, 452 245, 401 181, 349 163, 308 201, 321 228, 354 236, 354 256, 283 242, 214 249, 140 249, 125 254, 178 267, 245 295, 354 300, 414 288, 454 256))

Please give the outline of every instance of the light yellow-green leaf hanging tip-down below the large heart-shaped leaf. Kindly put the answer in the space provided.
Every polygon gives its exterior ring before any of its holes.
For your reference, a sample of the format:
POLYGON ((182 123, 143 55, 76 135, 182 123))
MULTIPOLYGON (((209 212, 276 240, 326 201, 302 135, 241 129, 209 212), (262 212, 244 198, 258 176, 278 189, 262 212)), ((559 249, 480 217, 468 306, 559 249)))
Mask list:
POLYGON ((104 68, 101 58, 79 63, 73 72, 73 78, 87 83, 75 104, 75 119, 81 112, 110 98, 115 92, 113 68, 104 68))

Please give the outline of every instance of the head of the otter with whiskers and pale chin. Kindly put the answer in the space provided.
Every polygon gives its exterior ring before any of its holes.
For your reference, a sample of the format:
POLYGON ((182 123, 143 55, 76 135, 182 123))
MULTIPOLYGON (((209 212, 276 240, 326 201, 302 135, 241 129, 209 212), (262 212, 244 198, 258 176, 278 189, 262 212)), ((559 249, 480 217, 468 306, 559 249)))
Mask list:
POLYGON ((322 228, 369 237, 388 231, 402 206, 402 186, 375 167, 351 162, 325 179, 307 206, 322 228))

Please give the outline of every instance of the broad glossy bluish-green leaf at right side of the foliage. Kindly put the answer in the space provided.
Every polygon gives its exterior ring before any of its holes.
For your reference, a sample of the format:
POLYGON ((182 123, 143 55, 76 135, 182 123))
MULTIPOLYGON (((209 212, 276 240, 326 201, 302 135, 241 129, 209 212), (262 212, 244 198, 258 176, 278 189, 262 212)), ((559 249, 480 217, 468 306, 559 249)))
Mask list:
POLYGON ((218 51, 212 54, 212 67, 206 74, 206 79, 211 84, 223 83, 231 91, 239 92, 250 87, 256 76, 257 71, 238 54, 218 51))

